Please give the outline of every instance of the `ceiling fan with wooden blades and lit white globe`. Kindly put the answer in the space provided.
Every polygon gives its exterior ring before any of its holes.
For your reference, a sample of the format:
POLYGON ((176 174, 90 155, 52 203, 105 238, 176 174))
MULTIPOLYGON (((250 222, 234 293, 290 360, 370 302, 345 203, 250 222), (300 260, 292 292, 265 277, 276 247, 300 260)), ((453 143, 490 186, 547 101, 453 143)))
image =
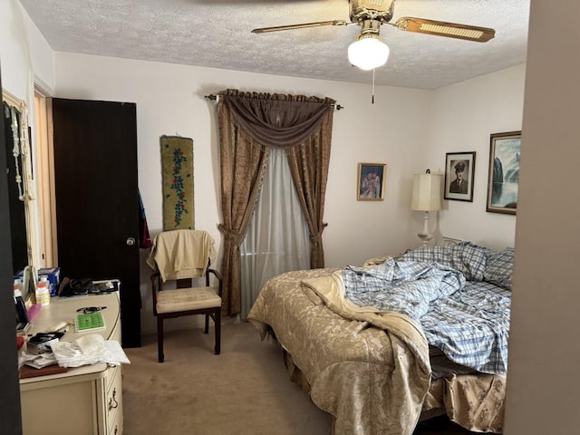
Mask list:
POLYGON ((391 23, 395 0, 349 0, 349 4, 350 22, 345 20, 331 20, 315 23, 277 25, 275 27, 257 28, 252 30, 252 33, 264 34, 323 25, 360 25, 361 33, 357 36, 356 41, 349 46, 348 57, 353 65, 358 66, 362 70, 372 70, 387 62, 389 47, 382 42, 379 35, 382 24, 388 24, 406 32, 435 34, 477 43, 485 43, 496 34, 494 29, 488 27, 427 20, 412 16, 403 16, 394 23, 391 23))

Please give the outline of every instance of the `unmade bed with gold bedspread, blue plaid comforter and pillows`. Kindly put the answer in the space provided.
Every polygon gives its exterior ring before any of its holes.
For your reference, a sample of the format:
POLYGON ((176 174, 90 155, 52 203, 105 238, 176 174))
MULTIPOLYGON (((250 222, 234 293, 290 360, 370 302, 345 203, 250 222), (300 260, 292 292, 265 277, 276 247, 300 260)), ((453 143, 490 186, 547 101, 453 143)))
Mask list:
POLYGON ((502 433, 513 255, 459 242, 288 272, 248 320, 335 435, 411 434, 441 414, 502 433))

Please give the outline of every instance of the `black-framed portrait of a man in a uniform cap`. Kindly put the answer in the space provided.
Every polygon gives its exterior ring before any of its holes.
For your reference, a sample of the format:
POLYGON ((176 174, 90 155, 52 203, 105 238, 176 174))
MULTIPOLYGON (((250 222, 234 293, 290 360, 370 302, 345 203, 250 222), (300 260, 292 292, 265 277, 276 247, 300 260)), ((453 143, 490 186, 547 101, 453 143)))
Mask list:
POLYGON ((445 155, 445 199, 473 202, 475 151, 445 155))

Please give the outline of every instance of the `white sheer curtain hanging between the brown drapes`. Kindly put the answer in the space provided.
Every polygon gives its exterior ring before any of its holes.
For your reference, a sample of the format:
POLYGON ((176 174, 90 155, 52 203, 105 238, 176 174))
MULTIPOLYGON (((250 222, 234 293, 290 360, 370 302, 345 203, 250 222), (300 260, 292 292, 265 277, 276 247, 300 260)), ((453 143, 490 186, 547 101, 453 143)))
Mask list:
POLYGON ((285 151, 271 149, 254 216, 240 246, 241 317, 272 276, 310 268, 310 237, 285 151))

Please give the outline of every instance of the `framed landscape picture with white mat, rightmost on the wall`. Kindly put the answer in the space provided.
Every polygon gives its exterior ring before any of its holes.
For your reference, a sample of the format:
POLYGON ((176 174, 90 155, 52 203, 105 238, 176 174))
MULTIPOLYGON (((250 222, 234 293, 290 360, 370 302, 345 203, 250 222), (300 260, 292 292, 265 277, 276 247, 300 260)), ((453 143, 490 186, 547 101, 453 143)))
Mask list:
POLYGON ((521 142, 521 131, 490 135, 486 211, 516 214, 521 142))

